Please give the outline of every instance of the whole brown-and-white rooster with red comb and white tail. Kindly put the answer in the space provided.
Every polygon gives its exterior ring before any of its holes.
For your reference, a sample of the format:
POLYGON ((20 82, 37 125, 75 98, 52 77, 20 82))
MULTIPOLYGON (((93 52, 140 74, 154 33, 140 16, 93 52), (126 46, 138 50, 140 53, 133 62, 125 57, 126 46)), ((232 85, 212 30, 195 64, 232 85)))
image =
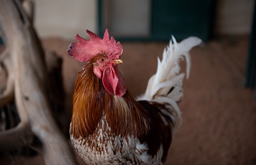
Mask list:
POLYGON ((108 29, 103 39, 86 32, 90 41, 76 34, 78 43, 67 49, 76 60, 88 62, 78 72, 73 95, 70 138, 77 153, 88 165, 163 164, 181 123, 178 103, 185 73, 179 61, 186 58, 188 77, 189 51, 201 39, 177 43, 172 37, 146 92, 135 100, 118 70, 121 43, 109 37, 108 29))

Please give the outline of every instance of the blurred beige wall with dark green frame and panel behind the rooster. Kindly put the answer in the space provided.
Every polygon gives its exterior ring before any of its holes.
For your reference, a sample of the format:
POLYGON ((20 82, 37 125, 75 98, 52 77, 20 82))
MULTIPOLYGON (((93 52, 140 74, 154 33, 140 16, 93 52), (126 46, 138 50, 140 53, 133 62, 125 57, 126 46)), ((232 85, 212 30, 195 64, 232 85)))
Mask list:
POLYGON ((72 39, 85 29, 122 38, 249 34, 254 0, 34 0, 40 37, 72 39))

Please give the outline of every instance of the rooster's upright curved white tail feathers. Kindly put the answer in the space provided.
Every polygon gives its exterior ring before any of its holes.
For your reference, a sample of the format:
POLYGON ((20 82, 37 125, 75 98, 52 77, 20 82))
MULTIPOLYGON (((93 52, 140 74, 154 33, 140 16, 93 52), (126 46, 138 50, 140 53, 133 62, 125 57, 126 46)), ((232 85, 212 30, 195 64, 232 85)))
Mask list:
POLYGON ((145 94, 137 98, 137 100, 154 101, 161 104, 168 103, 167 108, 171 111, 169 115, 174 123, 174 131, 178 129, 182 121, 177 102, 183 97, 181 87, 185 73, 180 73, 179 62, 185 57, 187 64, 186 78, 189 78, 191 68, 189 51, 201 42, 202 40, 197 37, 189 37, 177 43, 172 36, 169 46, 163 51, 162 61, 159 57, 157 58, 157 72, 149 79, 145 94), (175 117, 179 119, 179 125, 176 123, 175 117))

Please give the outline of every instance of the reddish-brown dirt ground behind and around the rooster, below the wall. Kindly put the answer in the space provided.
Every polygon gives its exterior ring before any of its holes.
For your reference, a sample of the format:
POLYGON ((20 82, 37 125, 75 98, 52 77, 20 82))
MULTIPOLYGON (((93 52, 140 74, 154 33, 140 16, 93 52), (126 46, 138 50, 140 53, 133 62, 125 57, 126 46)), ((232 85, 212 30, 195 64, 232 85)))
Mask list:
MULTIPOLYGON (((56 51, 63 59, 65 133, 71 120, 77 72, 84 65, 66 54, 70 42, 75 40, 42 40, 45 49, 56 51)), ((119 70, 135 97, 145 91, 148 78, 156 72, 157 56, 162 56, 167 44, 122 42, 124 64, 119 70)), ((248 48, 248 36, 233 36, 191 50, 191 73, 184 80, 185 96, 180 103, 183 124, 173 139, 165 165, 256 165, 255 91, 243 86, 248 48)), ((181 66, 185 70, 185 62, 181 66)), ((0 164, 41 165, 43 159, 40 154, 3 153, 0 164)))

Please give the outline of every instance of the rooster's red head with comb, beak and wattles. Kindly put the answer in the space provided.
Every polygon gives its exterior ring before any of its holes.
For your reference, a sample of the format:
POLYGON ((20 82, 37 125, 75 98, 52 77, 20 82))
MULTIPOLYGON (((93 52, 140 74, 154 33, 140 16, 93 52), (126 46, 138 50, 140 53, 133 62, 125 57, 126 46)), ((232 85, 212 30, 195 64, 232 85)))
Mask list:
POLYGON ((91 31, 86 30, 90 41, 76 34, 78 43, 71 43, 67 53, 81 62, 93 62, 93 72, 102 79, 105 89, 111 95, 121 97, 126 92, 126 84, 121 76, 117 64, 121 64, 123 52, 120 42, 116 43, 114 37, 109 39, 108 29, 103 39, 91 31))

